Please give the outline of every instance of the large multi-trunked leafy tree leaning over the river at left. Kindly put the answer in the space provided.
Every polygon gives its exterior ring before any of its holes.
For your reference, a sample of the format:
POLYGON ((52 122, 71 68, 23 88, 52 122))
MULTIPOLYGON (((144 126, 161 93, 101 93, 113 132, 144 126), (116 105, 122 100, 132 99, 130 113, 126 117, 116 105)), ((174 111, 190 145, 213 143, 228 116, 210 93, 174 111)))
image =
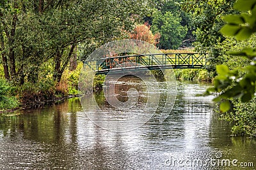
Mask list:
MULTIPOLYGON (((1 55, 6 79, 35 83, 45 62, 60 81, 77 45, 102 45, 131 31, 150 1, 20 1, 1 3, 1 55), (10 74, 10 76, 9 76, 10 74)), ((97 46, 95 46, 97 47, 97 46)))

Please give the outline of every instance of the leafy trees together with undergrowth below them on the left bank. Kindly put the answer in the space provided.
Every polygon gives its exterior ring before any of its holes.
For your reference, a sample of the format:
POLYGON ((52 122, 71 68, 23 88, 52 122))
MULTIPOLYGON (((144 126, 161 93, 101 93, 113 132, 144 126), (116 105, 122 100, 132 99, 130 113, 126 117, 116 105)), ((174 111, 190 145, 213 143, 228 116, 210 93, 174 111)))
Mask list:
POLYGON ((23 104, 77 94, 77 59, 124 38, 151 9, 144 0, 1 1, 1 77, 23 104))

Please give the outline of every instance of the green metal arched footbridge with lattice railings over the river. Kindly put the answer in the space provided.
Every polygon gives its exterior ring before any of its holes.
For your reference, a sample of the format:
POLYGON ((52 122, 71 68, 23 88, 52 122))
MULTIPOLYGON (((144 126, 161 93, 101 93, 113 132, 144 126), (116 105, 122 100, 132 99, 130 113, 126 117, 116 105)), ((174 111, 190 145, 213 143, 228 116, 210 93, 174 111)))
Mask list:
POLYGON ((84 67, 96 74, 145 69, 202 69, 207 66, 207 53, 151 53, 85 60, 84 67))

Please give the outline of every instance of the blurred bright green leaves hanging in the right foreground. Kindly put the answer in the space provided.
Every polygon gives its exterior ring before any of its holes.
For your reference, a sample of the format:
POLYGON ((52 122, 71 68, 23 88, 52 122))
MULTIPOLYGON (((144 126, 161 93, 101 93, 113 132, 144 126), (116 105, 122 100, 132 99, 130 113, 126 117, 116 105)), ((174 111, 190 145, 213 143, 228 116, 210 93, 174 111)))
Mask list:
MULTIPOLYGON (((225 36, 232 36, 238 41, 249 39, 256 32, 256 0, 238 0, 234 9, 241 11, 238 15, 226 15, 223 19, 227 22, 220 32, 225 36)), ((256 83, 256 48, 247 47, 230 55, 242 56, 250 59, 250 65, 244 67, 245 74, 240 77, 238 71, 232 71, 228 66, 216 66, 218 76, 214 80, 214 87, 207 89, 205 95, 219 92, 214 99, 220 102, 220 110, 230 110, 229 99, 241 99, 243 103, 250 101, 255 96, 256 83)))

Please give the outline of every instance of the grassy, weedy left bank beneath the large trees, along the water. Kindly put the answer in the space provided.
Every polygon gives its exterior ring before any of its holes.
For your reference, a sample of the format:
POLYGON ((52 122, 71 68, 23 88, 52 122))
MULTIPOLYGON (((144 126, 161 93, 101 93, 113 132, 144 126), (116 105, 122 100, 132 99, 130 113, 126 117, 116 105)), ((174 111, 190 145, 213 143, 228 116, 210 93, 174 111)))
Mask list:
MULTIPOLYGON (((42 73, 35 83, 26 81, 23 85, 15 85, 12 81, 4 80, 1 70, 0 111, 12 111, 20 106, 44 106, 70 96, 77 96, 82 67, 83 63, 77 62, 74 71, 65 69, 59 83, 53 80, 52 74, 42 73)), ((47 71, 45 68, 45 72, 47 71)))

